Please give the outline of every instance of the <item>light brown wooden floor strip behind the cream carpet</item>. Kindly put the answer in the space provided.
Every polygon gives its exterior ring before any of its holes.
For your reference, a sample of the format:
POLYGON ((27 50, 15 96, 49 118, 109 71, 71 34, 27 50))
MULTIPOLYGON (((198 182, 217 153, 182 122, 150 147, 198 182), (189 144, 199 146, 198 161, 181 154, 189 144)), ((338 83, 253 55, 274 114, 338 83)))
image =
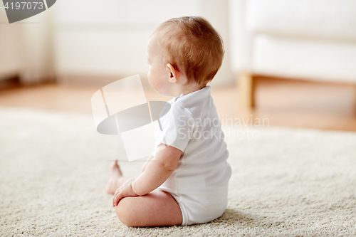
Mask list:
MULTIPOLYGON (((0 90, 0 106, 91 113, 90 98, 98 89, 48 84, 0 90)), ((145 88, 145 93, 147 100, 170 99, 151 88, 145 88)), ((254 110, 239 107, 235 86, 213 88, 212 95, 223 122, 232 119, 243 124, 259 118, 269 126, 356 131, 356 88, 352 85, 259 79, 254 110)))

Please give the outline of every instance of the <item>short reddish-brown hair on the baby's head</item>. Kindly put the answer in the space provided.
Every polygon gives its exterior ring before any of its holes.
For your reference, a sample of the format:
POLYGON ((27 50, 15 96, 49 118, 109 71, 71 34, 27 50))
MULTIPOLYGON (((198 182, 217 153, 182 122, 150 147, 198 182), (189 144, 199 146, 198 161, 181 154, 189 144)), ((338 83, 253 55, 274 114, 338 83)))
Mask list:
POLYGON ((189 83, 206 84, 221 67, 222 38, 202 17, 184 16, 164 21, 152 35, 158 36, 163 62, 185 73, 189 83))

